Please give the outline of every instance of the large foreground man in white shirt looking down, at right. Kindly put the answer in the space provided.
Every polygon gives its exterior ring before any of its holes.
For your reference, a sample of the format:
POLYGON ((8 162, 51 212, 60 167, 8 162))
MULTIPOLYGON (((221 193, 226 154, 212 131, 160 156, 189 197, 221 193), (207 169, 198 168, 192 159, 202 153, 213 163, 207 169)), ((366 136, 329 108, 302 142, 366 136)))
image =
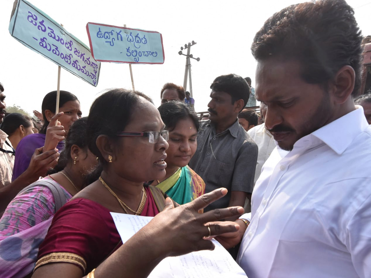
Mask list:
POLYGON ((344 0, 289 6, 255 36, 256 97, 278 148, 249 226, 237 220, 239 236, 224 236, 228 247, 243 235, 249 278, 371 277, 371 127, 353 102, 361 41, 344 0))

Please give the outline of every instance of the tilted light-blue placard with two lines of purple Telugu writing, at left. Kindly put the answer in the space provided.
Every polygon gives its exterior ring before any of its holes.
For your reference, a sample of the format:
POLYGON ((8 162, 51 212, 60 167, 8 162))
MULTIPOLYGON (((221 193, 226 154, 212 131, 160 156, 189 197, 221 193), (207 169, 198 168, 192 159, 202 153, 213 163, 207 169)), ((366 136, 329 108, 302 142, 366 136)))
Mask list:
POLYGON ((29 2, 18 0, 9 33, 63 69, 93 86, 98 85, 101 63, 93 58, 89 48, 29 2))

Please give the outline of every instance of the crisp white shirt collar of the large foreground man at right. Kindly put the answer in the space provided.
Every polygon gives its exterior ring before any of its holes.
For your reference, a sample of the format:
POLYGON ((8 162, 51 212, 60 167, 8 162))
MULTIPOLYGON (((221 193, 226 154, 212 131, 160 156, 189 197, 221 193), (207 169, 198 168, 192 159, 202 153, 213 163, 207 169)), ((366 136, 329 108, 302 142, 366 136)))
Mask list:
POLYGON ((299 139, 296 142, 298 144, 295 143, 294 146, 302 145, 303 142, 308 140, 315 143, 315 141, 319 139, 338 155, 341 155, 352 143, 354 138, 368 127, 362 106, 356 105, 355 107, 355 110, 299 139), (313 136, 317 140, 313 140, 313 136))

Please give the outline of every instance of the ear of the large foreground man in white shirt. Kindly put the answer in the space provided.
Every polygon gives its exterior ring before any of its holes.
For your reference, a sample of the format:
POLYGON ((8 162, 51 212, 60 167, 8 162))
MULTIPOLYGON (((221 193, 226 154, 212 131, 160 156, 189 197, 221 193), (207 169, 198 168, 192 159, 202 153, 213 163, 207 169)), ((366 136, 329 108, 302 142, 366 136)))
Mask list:
POLYGON ((337 104, 344 103, 354 90, 355 72, 347 65, 343 66, 336 73, 333 81, 329 83, 329 92, 337 104))

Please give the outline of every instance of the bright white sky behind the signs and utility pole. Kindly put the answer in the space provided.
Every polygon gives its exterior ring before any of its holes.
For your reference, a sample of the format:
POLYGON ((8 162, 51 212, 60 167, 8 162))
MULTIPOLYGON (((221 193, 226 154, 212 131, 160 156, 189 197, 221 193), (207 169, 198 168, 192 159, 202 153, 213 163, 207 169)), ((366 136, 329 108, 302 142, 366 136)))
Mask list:
MULTIPOLYGON (((62 23, 65 29, 89 45, 86 23, 96 22, 162 34, 165 63, 133 64, 135 89, 160 105, 160 90, 166 82, 183 85, 185 56, 180 47, 194 40, 191 54, 193 97, 196 111, 206 111, 210 84, 215 77, 236 73, 250 76, 255 85, 256 62, 250 51, 255 33, 276 11, 300 0, 30 0, 34 6, 62 23)), ((371 0, 348 0, 364 35, 371 34, 371 0)), ((8 32, 13 0, 0 0, 0 82, 6 103, 19 105, 32 115, 41 112, 46 93, 57 89, 58 66, 17 42, 8 32)), ((128 64, 102 63, 97 87, 62 69, 60 89, 74 93, 84 116, 102 90, 131 89, 128 64)), ((189 90, 189 85, 187 85, 189 90)))

